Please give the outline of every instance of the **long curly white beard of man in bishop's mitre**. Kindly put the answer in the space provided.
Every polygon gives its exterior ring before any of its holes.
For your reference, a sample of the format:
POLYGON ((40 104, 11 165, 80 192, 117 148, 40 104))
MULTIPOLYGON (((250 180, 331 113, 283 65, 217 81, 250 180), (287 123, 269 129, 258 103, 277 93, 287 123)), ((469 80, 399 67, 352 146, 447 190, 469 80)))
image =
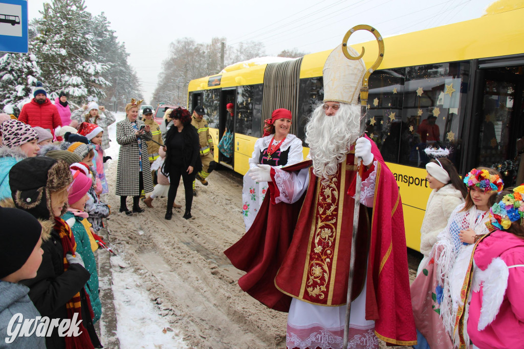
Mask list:
POLYGON ((360 106, 341 103, 333 116, 326 116, 322 105, 311 114, 305 126, 305 143, 310 147, 313 173, 322 178, 324 185, 336 174, 339 163, 360 136, 360 113, 360 106))

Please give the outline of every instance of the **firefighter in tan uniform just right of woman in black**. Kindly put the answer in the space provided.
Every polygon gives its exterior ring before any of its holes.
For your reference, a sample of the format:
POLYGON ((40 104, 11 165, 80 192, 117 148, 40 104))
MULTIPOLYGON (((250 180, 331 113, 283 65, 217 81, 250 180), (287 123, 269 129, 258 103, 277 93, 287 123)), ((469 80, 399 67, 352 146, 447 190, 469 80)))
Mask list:
MULTIPOLYGON (((200 158, 202 160, 202 171, 196 173, 196 179, 198 179, 204 186, 208 185, 209 174, 216 168, 216 162, 214 161, 213 155, 213 139, 209 134, 208 121, 204 119, 204 107, 197 105, 193 110, 193 119, 191 125, 193 125, 198 131, 200 141, 200 158)), ((193 195, 196 196, 195 182, 193 181, 193 195)))

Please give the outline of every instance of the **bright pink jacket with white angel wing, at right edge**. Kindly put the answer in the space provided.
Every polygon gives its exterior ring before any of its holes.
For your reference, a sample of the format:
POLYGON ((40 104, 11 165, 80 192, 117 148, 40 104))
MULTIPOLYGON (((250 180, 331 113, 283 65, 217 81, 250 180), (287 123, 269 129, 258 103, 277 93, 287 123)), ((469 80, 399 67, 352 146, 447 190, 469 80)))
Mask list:
POLYGON ((475 270, 473 276, 467 321, 471 341, 481 349, 524 348, 524 238, 497 230, 478 244, 473 258, 482 271, 475 270), (497 263, 501 268, 496 268, 497 263), (479 275, 485 281, 475 292, 475 278, 479 275))

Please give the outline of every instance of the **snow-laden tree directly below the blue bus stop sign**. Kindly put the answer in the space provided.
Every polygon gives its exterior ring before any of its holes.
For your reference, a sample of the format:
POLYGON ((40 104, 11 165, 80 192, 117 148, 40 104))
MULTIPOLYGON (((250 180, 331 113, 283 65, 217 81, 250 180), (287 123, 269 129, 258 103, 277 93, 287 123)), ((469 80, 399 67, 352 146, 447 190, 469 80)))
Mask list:
POLYGON ((29 42, 28 53, 0 53, 0 110, 18 115, 32 98, 32 88, 41 75, 29 42))

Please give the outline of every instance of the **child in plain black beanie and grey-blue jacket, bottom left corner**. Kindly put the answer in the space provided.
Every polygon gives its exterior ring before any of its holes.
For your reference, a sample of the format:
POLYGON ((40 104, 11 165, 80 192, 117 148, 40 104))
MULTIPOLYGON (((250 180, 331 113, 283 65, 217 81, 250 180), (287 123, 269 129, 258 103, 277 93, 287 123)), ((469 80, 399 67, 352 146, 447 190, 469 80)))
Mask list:
MULTIPOLYGON (((43 337, 8 334, 9 322, 15 314, 23 319, 36 319, 40 313, 29 299, 29 288, 19 283, 36 277, 42 263, 42 226, 29 213, 12 208, 0 208, 0 337, 7 347, 45 349, 43 337)), ((12 329, 13 330, 13 329, 12 329)))

